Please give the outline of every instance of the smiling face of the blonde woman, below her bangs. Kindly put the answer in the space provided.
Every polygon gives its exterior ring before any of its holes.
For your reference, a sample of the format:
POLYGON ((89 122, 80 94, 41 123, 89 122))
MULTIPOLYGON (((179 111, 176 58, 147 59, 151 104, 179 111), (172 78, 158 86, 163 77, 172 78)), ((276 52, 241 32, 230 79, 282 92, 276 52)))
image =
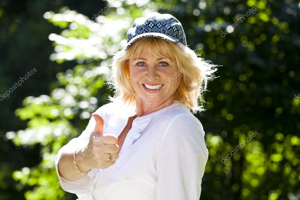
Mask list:
POLYGON ((149 53, 129 59, 130 82, 137 101, 159 105, 173 98, 181 82, 182 71, 171 59, 150 56, 149 53))

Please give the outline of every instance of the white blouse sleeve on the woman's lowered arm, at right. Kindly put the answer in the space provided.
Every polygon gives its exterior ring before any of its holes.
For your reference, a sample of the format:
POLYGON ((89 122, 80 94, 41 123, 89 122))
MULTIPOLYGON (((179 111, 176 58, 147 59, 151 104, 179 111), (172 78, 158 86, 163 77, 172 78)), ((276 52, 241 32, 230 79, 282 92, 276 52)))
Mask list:
POLYGON ((157 200, 199 200, 208 159, 201 122, 193 115, 174 117, 157 155, 157 200))

